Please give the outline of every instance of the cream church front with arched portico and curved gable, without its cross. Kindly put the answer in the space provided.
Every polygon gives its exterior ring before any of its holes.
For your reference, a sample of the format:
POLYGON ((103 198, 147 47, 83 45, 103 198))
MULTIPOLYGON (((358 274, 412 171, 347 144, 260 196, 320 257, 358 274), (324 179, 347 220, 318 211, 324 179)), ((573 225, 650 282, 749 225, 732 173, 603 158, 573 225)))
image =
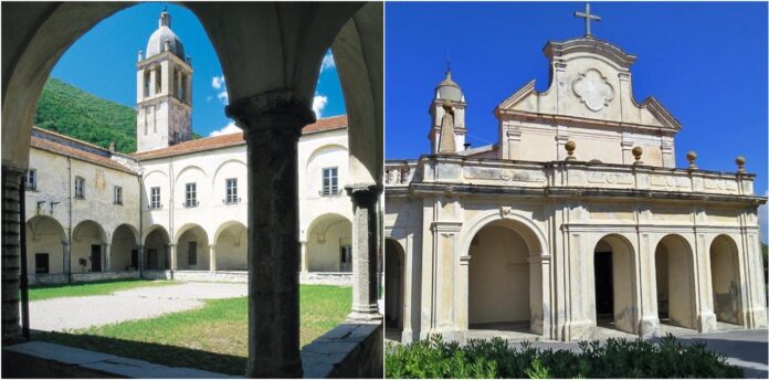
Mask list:
POLYGON ((526 330, 767 326, 755 175, 675 161, 682 126, 636 102, 635 56, 588 34, 544 49, 534 81, 494 109, 498 142, 468 148, 446 72, 431 152, 386 161, 386 318, 402 341, 526 330))

